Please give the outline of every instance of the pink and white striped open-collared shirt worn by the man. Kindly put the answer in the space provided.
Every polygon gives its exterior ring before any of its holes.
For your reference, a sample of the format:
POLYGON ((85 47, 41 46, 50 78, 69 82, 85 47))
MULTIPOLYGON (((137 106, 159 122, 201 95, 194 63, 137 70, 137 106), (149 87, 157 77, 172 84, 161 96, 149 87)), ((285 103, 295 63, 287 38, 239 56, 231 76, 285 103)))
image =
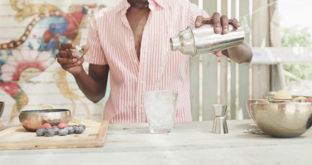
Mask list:
MULTIPOLYGON (((156 90, 161 58, 170 48, 170 37, 197 16, 208 17, 188 0, 149 0, 151 10, 137 58, 133 31, 126 17, 130 4, 121 0, 100 10, 91 21, 86 62, 110 67, 110 97, 104 119, 111 123, 145 123, 142 93, 156 90)), ((190 103, 189 56, 172 52, 165 66, 160 90, 177 90, 176 122, 192 121, 190 103)))

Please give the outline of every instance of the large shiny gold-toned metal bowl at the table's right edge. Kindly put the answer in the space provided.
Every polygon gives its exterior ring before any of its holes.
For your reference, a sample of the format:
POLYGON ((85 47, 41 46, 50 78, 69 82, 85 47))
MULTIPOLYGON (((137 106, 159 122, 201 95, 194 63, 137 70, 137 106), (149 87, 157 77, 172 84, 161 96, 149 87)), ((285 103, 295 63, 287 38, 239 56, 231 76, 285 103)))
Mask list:
POLYGON ((312 125, 312 103, 252 103, 254 122, 265 133, 277 138, 292 138, 312 125))

